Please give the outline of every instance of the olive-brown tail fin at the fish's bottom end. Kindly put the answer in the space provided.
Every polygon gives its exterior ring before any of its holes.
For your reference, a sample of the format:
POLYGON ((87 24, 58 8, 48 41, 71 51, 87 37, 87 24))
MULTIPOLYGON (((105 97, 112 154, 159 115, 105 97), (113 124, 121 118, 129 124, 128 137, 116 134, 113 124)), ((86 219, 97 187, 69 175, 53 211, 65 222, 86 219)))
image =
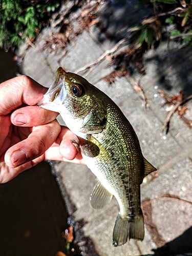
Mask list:
POLYGON ((113 230, 113 245, 119 246, 126 243, 127 239, 143 240, 144 220, 142 211, 136 217, 122 217, 118 214, 113 230))

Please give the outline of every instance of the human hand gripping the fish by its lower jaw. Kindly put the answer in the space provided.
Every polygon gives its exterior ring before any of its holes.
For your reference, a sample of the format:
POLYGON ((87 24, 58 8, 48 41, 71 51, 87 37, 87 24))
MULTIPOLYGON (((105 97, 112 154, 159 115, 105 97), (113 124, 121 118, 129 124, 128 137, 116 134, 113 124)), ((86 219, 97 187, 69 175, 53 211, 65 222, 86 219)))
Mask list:
POLYGON ((44 159, 83 163, 78 137, 35 105, 46 91, 27 76, 0 84, 0 183, 44 159))

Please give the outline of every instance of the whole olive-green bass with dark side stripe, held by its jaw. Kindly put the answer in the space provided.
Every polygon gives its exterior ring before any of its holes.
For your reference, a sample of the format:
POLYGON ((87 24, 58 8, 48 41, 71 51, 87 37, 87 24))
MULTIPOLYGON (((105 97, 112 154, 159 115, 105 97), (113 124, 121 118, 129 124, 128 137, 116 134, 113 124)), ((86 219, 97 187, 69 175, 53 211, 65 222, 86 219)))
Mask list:
POLYGON ((97 177, 92 207, 100 209, 116 198, 119 213, 113 245, 123 245, 128 239, 142 241, 140 184, 156 168, 143 157, 137 135, 119 107, 86 79, 61 67, 38 105, 60 113, 78 136, 82 157, 97 177))

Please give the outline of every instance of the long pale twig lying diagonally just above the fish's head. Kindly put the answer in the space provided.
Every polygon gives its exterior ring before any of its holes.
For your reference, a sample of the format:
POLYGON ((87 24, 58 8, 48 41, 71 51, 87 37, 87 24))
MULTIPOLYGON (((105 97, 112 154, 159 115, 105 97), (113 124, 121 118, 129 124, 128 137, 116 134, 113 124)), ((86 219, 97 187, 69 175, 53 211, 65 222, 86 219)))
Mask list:
POLYGON ((97 60, 95 60, 95 61, 89 63, 88 65, 86 65, 86 66, 84 66, 84 67, 82 67, 82 68, 80 68, 80 69, 77 69, 77 70, 75 71, 75 73, 79 73, 79 72, 84 71, 84 70, 87 70, 87 69, 95 68, 95 66, 97 66, 106 56, 108 56, 108 55, 114 53, 115 51, 117 51, 117 49, 118 49, 121 45, 123 45, 127 40, 129 40, 131 36, 132 36, 132 35, 130 34, 130 35, 127 36, 126 38, 123 38, 122 40, 120 40, 119 42, 117 42, 117 44, 116 44, 112 49, 105 51, 97 60))

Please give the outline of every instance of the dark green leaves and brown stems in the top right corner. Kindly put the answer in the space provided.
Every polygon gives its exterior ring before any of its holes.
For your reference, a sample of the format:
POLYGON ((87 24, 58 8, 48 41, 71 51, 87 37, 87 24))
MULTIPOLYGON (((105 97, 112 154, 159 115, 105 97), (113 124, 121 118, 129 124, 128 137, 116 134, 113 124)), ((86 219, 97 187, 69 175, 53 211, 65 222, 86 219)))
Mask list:
MULTIPOLYGON (((157 41, 162 39, 161 27, 170 26, 168 36, 170 39, 182 40, 192 45, 192 2, 185 0, 141 0, 138 6, 151 5, 154 15, 137 26, 140 30, 138 44, 147 43, 148 49, 153 48, 157 41)), ((131 30, 131 29, 130 29, 131 30)))

